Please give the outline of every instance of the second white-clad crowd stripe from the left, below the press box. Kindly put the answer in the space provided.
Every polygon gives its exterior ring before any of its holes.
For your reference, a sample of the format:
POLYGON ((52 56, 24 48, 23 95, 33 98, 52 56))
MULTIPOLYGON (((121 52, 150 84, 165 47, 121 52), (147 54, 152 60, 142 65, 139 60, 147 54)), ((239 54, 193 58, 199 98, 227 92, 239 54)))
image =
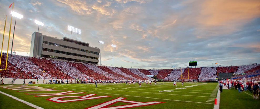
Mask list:
POLYGON ((55 66, 61 69, 65 74, 71 76, 72 79, 79 78, 84 80, 86 78, 90 78, 87 75, 79 72, 79 70, 77 70, 75 67, 73 67, 66 61, 52 60, 52 63, 54 63, 55 66))

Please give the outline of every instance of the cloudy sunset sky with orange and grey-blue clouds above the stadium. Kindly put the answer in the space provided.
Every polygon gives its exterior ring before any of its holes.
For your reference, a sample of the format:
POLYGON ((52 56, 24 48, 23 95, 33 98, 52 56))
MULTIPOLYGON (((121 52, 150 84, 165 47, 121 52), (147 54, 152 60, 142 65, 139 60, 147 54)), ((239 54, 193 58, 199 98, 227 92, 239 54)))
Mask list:
MULTIPOLYGON (((107 66, 112 65, 110 44, 117 45, 117 67, 186 67, 192 58, 198 67, 260 62, 259 0, 0 0, 1 43, 7 15, 5 52, 12 2, 24 16, 16 22, 18 55, 29 54, 36 19, 45 23, 39 29, 44 35, 70 37, 71 25, 82 30, 78 40, 90 46, 100 48, 98 41, 104 41, 101 64, 107 66)), ((11 33, 13 27, 14 20, 11 33)))

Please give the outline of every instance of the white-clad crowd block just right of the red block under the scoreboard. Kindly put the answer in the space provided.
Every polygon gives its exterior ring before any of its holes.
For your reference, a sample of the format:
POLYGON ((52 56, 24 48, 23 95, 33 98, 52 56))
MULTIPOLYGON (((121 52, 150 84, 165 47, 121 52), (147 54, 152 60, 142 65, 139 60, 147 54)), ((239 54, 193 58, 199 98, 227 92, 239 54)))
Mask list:
POLYGON ((215 80, 217 77, 216 67, 203 67, 201 68, 201 74, 199 75, 199 80, 215 80))

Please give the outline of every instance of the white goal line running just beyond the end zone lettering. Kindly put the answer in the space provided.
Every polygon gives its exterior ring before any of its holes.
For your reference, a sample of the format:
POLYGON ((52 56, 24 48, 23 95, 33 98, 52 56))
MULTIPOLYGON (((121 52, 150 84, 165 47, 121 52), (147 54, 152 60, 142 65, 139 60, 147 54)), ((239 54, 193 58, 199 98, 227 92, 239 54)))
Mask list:
MULTIPOLYGON (((36 85, 39 86, 39 85, 36 85)), ((45 86, 50 87, 50 86, 45 86)), ((57 88, 57 87, 50 87, 50 88, 57 88)), ((69 88, 61 88, 61 89, 69 89, 69 88)), ((69 90, 77 90, 77 89, 69 89, 69 90)), ((86 90, 78 90, 78 91, 86 91, 86 90)), ((86 92, 94 92, 94 91, 86 91, 86 92)), ((110 93, 104 93, 104 92, 95 92, 95 93, 101 93, 101 94, 110 94, 110 93)), ((121 94, 111 94, 111 95, 121 95, 121 94)), ((193 101, 182 101, 182 100, 172 100, 172 99, 160 99, 160 98, 152 98, 152 97, 143 97, 143 96, 132 96, 132 95, 121 95, 121 96, 131 96, 131 97, 140 97, 140 98, 148 98, 148 99, 159 99, 159 100, 169 100, 169 101, 181 101, 181 102, 193 102, 193 101)), ((202 103, 202 104, 210 104, 212 103, 204 103, 204 102, 193 102, 193 103, 202 103)))

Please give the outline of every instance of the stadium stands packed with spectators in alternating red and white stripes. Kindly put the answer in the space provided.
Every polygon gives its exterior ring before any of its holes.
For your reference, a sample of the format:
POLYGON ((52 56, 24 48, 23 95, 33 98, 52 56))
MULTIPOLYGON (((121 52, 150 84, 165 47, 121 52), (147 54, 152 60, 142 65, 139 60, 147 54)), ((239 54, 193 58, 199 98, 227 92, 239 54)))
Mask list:
MULTIPOLYGON (((5 63, 6 54, 3 54, 1 69, 4 69, 5 63)), ((214 80, 217 77, 217 73, 242 74, 258 72, 259 69, 259 64, 251 64, 228 67, 146 70, 8 55, 7 70, 0 71, 0 76, 25 79, 151 80, 152 78, 146 75, 157 75, 158 79, 167 80, 188 78, 190 80, 214 80)))

